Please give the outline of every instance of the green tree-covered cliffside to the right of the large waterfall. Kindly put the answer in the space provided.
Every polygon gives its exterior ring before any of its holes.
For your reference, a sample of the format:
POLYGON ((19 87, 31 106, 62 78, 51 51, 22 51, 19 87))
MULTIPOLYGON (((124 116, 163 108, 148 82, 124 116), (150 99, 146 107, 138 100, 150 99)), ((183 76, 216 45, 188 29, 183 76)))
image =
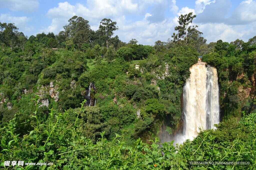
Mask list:
POLYGON ((256 73, 256 36, 247 43, 237 39, 230 44, 221 40, 202 61, 215 66, 218 70, 221 104, 225 116, 240 116, 256 110, 255 73, 256 73), (242 92, 247 93, 243 95, 242 92))

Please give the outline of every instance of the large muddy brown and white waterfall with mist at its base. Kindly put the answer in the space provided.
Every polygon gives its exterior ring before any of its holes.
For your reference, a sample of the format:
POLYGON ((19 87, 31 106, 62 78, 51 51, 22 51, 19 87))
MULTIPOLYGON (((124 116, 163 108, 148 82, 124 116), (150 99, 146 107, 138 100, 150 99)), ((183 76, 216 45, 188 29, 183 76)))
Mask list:
POLYGON ((217 69, 198 62, 190 68, 190 77, 183 88, 183 124, 173 135, 161 134, 161 142, 174 140, 182 144, 193 140, 201 129, 212 129, 219 123, 219 86, 217 69))

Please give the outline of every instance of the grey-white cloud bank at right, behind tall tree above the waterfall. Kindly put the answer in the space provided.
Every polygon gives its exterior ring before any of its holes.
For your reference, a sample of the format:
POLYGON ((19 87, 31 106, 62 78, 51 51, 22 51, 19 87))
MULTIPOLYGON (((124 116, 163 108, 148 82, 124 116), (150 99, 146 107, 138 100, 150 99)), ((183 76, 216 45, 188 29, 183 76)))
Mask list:
MULTIPOLYGON (((242 1, 232 13, 231 6, 230 0, 197 0, 195 10, 184 7, 177 15, 195 12, 197 17, 193 23, 204 33, 207 43, 218 40, 231 42, 237 38, 248 41, 256 34, 256 2, 242 1)), ((177 21, 178 17, 175 17, 175 26, 178 25, 177 21)))

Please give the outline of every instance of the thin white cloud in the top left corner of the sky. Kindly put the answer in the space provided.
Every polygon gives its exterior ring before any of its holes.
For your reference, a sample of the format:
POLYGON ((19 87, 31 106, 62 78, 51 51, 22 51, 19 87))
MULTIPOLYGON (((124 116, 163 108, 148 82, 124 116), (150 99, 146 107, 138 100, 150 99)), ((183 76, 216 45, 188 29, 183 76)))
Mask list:
POLYGON ((1 0, 1 8, 8 8, 12 11, 33 12, 38 6, 38 0, 1 0))

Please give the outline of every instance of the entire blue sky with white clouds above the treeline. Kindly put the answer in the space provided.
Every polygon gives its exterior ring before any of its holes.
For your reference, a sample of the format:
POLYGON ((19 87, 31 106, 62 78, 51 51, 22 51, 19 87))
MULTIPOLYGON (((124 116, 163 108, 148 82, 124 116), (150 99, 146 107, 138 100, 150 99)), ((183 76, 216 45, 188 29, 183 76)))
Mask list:
MULTIPOLYGON (((153 45, 171 38, 180 14, 193 12, 193 24, 207 43, 237 38, 247 42, 256 35, 255 0, 0 0, 0 22, 15 23, 28 37, 41 32, 58 34, 74 16, 89 21, 97 30, 103 18, 119 27, 123 42, 135 38, 139 44, 153 45)), ((114 36, 115 36, 114 35, 114 36)))

